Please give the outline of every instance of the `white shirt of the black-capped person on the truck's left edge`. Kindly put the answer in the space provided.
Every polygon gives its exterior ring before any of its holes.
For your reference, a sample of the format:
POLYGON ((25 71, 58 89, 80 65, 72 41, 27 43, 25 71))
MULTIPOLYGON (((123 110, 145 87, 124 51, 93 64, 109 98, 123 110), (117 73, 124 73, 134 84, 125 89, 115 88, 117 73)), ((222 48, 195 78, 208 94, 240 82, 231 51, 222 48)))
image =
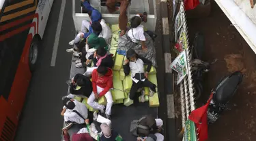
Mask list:
MULTIPOLYGON (((78 102, 76 100, 73 101, 74 104, 76 105, 74 107, 74 109, 72 110, 76 110, 77 112, 79 112, 85 119, 87 119, 88 117, 88 110, 87 107, 85 106, 85 104, 78 102)), ((74 113, 72 110, 67 109, 66 112, 64 113, 64 121, 72 121, 72 122, 76 122, 79 124, 85 123, 85 120, 82 119, 79 115, 77 115, 76 113, 74 113)))

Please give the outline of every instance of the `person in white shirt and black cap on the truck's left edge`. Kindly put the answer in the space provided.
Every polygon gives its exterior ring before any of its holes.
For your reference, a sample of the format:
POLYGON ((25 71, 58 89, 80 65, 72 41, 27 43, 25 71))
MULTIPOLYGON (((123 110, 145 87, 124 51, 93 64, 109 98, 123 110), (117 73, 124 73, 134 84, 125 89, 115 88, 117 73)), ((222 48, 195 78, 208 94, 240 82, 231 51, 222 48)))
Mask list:
POLYGON ((88 110, 85 104, 82 104, 81 102, 70 98, 63 98, 62 102, 64 104, 64 107, 61 111, 61 115, 64 117, 64 121, 66 124, 85 123, 84 119, 87 119, 88 117, 88 110), (79 114, 83 116, 83 118, 79 114))

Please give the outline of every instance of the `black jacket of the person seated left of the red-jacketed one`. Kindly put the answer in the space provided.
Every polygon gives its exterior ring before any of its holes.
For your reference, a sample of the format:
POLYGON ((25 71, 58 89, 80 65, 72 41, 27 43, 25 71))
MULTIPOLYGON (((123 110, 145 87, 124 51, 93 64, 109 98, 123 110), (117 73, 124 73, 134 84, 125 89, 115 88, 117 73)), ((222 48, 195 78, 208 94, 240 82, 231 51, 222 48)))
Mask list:
POLYGON ((74 76, 74 82, 76 82, 77 79, 83 79, 82 83, 77 84, 79 85, 81 88, 76 90, 76 85, 71 85, 70 86, 70 93, 74 94, 74 95, 83 95, 89 98, 89 96, 91 95, 92 92, 92 84, 91 84, 91 80, 88 77, 85 77, 82 74, 76 74, 76 76, 74 76))

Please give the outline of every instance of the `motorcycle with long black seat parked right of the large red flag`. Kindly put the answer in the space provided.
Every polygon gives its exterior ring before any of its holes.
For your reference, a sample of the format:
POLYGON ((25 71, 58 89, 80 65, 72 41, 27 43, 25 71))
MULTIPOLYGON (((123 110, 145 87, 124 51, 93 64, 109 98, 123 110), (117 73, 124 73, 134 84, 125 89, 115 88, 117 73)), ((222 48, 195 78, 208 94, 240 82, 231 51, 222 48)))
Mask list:
POLYGON ((242 72, 236 71, 224 77, 215 89, 212 89, 212 99, 208 106, 208 124, 214 123, 224 110, 227 110, 229 100, 236 94, 238 85, 242 82, 242 72))

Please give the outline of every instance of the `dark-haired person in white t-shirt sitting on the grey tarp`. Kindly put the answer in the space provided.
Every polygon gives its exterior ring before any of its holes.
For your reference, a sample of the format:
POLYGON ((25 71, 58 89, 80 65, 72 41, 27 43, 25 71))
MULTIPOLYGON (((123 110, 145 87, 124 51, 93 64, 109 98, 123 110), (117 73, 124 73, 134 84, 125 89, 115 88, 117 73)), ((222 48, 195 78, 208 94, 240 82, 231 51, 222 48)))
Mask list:
POLYGON ((141 43, 141 47, 143 50, 146 50, 147 47, 145 45, 145 35, 144 35, 144 26, 141 25, 141 22, 147 22, 147 13, 137 14, 136 16, 130 19, 130 30, 127 35, 130 37, 132 42, 141 43))

